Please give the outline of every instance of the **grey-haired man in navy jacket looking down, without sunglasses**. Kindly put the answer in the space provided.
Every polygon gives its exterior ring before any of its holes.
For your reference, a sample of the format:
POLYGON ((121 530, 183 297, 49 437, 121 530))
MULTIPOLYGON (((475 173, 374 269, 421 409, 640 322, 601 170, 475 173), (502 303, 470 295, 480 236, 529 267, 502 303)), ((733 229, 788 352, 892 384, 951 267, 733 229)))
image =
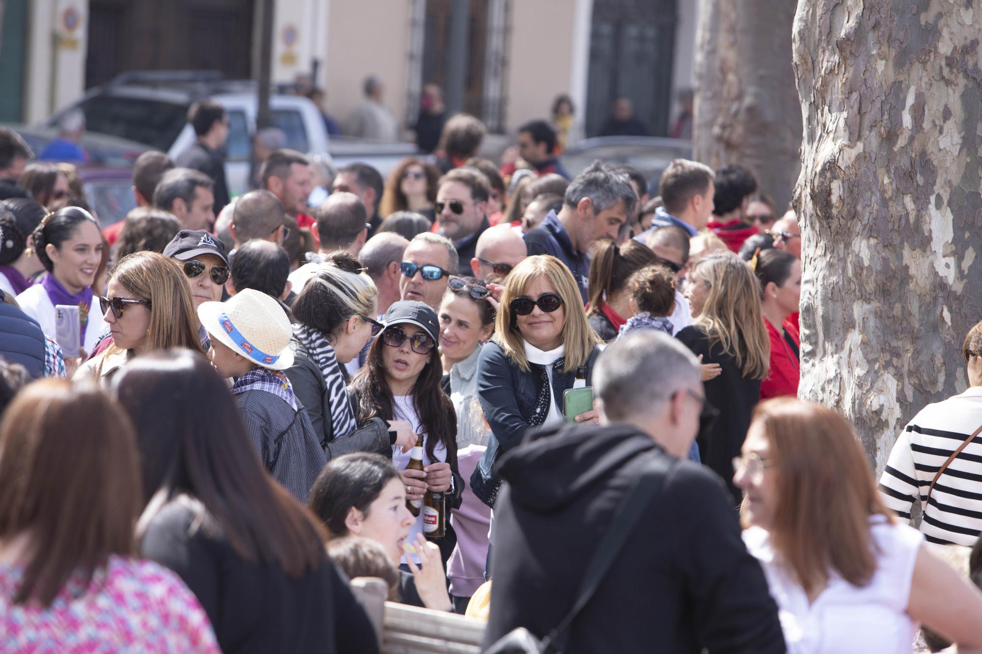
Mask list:
POLYGON ((552 254, 565 263, 586 302, 590 245, 597 239, 617 240, 635 202, 637 195, 627 175, 594 161, 570 183, 559 214, 550 211, 542 224, 525 235, 528 255, 552 254))

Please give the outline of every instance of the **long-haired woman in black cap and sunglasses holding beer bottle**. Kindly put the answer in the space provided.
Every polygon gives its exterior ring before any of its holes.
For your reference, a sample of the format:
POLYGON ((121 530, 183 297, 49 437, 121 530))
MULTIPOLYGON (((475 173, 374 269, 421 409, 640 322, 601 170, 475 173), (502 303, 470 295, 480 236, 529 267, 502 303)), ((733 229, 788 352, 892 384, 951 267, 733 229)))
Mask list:
MULTIPOLYGON (((422 302, 394 302, 382 319, 384 330, 368 351, 352 381, 352 401, 360 423, 373 417, 388 420, 393 439, 423 438, 423 470, 407 470, 409 448, 394 446, 392 462, 402 471, 406 497, 421 502, 427 490, 448 495, 447 507, 459 503, 463 484, 457 471, 457 413, 440 387, 443 365, 436 344, 440 323, 436 311, 422 302), (450 497, 453 496, 453 499, 450 497)), ((393 440, 395 443, 395 440, 393 440)), ((423 512, 409 538, 422 531, 423 512)), ((415 561, 418 563, 418 561, 415 561)))

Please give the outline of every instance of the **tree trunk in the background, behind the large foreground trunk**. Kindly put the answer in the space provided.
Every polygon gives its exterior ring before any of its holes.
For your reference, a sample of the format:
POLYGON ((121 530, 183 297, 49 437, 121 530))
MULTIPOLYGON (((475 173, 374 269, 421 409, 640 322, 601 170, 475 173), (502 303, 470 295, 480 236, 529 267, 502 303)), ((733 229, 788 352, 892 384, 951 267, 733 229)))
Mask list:
POLYGON ((793 18, 793 0, 700 0, 696 31, 693 156, 746 166, 779 210, 800 166, 793 18))

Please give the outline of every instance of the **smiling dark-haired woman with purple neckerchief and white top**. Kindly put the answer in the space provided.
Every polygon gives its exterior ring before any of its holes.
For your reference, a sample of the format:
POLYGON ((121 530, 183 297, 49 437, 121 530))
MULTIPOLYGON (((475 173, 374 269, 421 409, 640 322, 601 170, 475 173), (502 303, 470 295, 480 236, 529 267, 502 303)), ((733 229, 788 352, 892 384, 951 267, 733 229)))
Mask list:
POLYGON ((106 323, 102 313, 92 311, 92 283, 102 262, 102 233, 92 214, 67 206, 44 217, 33 233, 34 252, 47 275, 17 297, 27 315, 44 333, 58 333, 55 306, 79 308, 79 342, 58 345, 66 352, 81 350, 82 359, 98 343, 106 323))

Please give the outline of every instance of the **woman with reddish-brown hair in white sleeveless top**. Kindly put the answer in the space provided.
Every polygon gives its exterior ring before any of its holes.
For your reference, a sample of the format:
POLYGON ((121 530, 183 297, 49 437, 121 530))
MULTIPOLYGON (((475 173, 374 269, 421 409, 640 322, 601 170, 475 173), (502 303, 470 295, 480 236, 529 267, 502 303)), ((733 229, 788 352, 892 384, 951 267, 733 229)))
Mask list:
POLYGON ((789 652, 907 654, 918 623, 982 651, 982 592, 884 506, 846 419, 769 400, 734 463, 789 652))

